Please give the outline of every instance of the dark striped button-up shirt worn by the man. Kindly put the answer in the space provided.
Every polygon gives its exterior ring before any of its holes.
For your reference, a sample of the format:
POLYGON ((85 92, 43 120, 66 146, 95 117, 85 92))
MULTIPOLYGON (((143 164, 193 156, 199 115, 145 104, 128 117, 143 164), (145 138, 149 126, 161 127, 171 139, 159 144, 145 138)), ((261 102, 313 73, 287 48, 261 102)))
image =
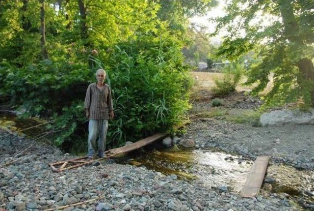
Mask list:
POLYGON ((88 86, 84 102, 85 109, 89 110, 90 120, 108 120, 109 113, 113 110, 111 91, 107 84, 102 89, 96 83, 88 86))

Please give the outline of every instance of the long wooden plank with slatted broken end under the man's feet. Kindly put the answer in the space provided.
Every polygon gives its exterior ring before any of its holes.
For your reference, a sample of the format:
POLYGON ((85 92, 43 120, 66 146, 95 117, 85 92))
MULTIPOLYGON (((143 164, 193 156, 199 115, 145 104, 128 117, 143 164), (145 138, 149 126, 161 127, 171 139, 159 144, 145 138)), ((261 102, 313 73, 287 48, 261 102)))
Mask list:
POLYGON ((86 160, 87 157, 78 157, 75 159, 69 159, 69 160, 63 160, 63 161, 57 161, 54 163, 49 164, 50 168, 54 172, 61 172, 67 169, 73 169, 77 168, 79 166, 91 164, 95 161, 100 161, 106 158, 114 157, 123 153, 127 153, 129 151, 133 151, 136 149, 139 149, 141 147, 144 147, 146 145, 149 145, 165 136, 167 136, 168 133, 157 133, 153 136, 147 137, 145 139, 139 140, 137 142, 134 142, 132 144, 126 145, 124 147, 116 148, 116 149, 111 149, 108 151, 105 151, 105 157, 99 158, 99 159, 94 159, 94 160, 86 160))

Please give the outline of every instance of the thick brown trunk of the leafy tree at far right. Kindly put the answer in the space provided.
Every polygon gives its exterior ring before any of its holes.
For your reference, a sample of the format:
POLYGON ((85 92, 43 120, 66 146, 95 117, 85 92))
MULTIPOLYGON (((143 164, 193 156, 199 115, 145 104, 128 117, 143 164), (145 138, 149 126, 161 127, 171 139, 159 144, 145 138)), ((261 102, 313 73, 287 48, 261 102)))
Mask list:
MULTIPOLYGON (((298 35, 300 31, 299 24, 295 19, 293 13, 293 7, 291 5, 291 0, 279 0, 279 7, 281 16, 284 23, 284 34, 285 37, 290 42, 296 43, 297 46, 305 46, 304 41, 298 35)), ((299 69, 299 76, 297 78, 297 83, 301 89, 309 89, 309 84, 312 86, 311 90, 311 104, 314 106, 314 66, 311 58, 302 58, 296 62, 296 65, 299 69), (306 83, 310 82, 310 83, 306 83)))

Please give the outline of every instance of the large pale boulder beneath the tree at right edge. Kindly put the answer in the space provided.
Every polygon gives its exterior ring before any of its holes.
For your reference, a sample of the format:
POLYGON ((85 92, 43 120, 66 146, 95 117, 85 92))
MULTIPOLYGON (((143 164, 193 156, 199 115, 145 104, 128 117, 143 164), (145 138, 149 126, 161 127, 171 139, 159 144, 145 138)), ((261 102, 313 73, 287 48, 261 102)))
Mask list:
POLYGON ((284 124, 314 124, 314 109, 309 112, 295 110, 275 110, 260 117, 263 126, 280 126, 284 124))

